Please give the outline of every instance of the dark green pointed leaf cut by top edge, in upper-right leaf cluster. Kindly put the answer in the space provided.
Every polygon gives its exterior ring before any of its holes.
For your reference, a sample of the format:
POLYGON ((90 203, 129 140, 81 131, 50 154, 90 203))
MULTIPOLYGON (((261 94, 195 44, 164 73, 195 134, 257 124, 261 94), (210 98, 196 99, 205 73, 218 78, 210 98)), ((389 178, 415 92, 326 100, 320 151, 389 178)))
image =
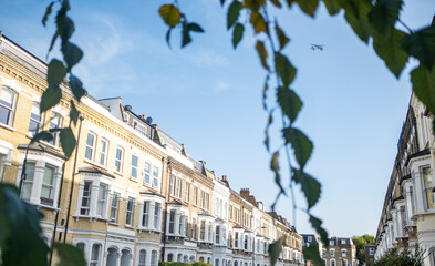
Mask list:
POLYGON ((370 24, 380 34, 385 38, 394 29, 398 20, 398 13, 402 9, 403 0, 377 0, 369 13, 370 24))

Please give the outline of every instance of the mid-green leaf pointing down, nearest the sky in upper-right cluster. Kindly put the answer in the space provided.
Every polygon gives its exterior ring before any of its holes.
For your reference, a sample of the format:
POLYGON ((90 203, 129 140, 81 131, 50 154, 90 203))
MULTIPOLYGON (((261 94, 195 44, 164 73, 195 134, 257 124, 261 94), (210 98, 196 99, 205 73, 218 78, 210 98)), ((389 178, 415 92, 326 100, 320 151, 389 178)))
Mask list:
POLYGON ((407 53, 401 48, 401 40, 404 35, 404 32, 396 29, 393 29, 387 38, 382 34, 373 35, 374 50, 397 79, 403 68, 405 68, 408 58, 407 53))

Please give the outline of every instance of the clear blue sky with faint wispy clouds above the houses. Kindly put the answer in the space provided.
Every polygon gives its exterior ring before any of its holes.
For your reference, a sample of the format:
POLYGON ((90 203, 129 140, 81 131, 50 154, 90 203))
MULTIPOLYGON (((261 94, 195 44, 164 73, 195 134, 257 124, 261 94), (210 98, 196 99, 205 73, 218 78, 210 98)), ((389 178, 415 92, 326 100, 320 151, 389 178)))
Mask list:
MULTIPOLYGON (((262 144, 266 73, 250 29, 232 49, 218 2, 179 1, 188 20, 206 33, 195 34, 182 50, 174 32, 169 50, 167 28, 157 13, 163 1, 72 0, 73 41, 85 53, 74 73, 93 96, 122 96, 135 113, 152 116, 188 153, 205 160, 208 168, 228 175, 234 190, 249 187, 270 206, 277 187, 262 144)), ((53 18, 48 28, 41 24, 48 4, 14 0, 0 9, 4 34, 41 59, 54 29, 53 18)), ((433 0, 408 0, 402 20, 418 29, 431 22, 434 10, 433 0)), ((304 106, 297 125, 314 142, 307 171, 323 184, 313 214, 324 219, 330 235, 375 234, 411 96, 411 68, 396 80, 352 33, 343 13, 331 18, 323 6, 315 19, 298 7, 276 16, 291 38, 284 52, 299 69, 292 88, 304 106), (327 47, 313 52, 310 43, 327 47)), ((269 99, 272 105, 273 94, 269 99)), ((272 127, 271 137, 278 147, 279 126, 272 127)), ((300 195, 297 204, 304 206, 300 195)), ((293 221, 290 206, 289 198, 281 198, 277 209, 293 221)), ((298 212, 296 221, 300 233, 312 232, 303 213, 298 212)))

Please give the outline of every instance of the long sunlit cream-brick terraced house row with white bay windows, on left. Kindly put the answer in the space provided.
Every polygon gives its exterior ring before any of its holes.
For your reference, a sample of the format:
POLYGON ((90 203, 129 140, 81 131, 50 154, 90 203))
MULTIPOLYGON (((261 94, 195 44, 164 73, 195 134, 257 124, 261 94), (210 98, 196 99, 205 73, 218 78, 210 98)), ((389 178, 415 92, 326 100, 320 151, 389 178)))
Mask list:
POLYGON ((278 265, 302 263, 302 237, 283 217, 248 188, 232 191, 226 176, 121 98, 82 99, 70 160, 58 133, 29 145, 37 132, 70 122, 68 82, 61 103, 40 113, 45 73, 44 62, 1 35, 0 182, 19 186, 22 180, 21 197, 44 214, 49 244, 72 243, 89 265, 267 266, 268 245, 287 236, 278 265))

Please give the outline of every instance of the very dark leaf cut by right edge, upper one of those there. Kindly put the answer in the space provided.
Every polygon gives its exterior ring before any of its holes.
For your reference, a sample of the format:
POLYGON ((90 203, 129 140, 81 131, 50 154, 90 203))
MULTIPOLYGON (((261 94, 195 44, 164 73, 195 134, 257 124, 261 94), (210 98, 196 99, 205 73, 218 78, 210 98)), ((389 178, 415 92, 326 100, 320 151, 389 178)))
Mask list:
POLYGON ((432 70, 435 62, 435 24, 404 37, 402 48, 432 70))

